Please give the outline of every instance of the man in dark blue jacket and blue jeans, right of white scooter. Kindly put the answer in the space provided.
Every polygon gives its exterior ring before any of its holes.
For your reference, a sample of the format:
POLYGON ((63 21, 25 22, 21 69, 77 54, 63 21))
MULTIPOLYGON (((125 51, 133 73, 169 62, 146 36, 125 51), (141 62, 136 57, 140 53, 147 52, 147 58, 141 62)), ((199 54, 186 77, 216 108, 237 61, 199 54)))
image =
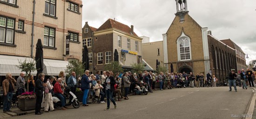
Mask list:
POLYGON ((85 70, 85 75, 82 76, 81 79, 81 89, 84 93, 83 95, 83 106, 89 106, 87 104, 87 97, 88 97, 88 93, 90 90, 90 83, 92 83, 92 80, 89 80, 88 76, 89 76, 90 71, 89 70, 85 70))

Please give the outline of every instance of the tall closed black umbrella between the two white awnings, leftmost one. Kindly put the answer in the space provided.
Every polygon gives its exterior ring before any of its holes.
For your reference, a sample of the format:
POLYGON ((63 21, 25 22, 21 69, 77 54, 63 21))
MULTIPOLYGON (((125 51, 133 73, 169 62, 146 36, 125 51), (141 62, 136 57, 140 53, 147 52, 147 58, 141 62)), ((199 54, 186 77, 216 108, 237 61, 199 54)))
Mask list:
POLYGON ((37 40, 36 43, 36 51, 35 51, 35 61, 36 61, 36 78, 38 74, 43 73, 43 65, 44 65, 44 52, 43 52, 43 45, 41 39, 37 40))

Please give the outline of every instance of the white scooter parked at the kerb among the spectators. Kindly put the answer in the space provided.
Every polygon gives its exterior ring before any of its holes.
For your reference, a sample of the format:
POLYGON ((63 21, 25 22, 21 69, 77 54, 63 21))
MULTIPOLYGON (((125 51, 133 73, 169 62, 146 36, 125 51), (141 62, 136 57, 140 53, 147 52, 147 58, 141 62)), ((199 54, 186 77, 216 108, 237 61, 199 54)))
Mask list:
MULTIPOLYGON (((66 87, 66 90, 64 91, 64 93, 68 94, 69 97, 71 97, 71 95, 73 96, 73 99, 71 100, 71 102, 66 103, 65 106, 70 106, 72 104, 74 108, 80 107, 80 102, 78 101, 75 94, 70 91, 70 87, 66 87)), ((61 99, 59 99, 56 95, 53 95, 53 102, 54 102, 54 108, 61 107, 61 99)))

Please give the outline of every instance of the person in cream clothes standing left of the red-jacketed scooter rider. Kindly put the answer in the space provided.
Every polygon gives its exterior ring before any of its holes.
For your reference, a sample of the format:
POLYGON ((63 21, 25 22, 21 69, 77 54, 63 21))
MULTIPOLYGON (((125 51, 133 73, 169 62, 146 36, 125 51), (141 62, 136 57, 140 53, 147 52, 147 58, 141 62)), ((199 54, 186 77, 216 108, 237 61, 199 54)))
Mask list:
POLYGON ((50 76, 49 79, 47 79, 46 82, 46 86, 45 86, 45 98, 44 98, 44 111, 45 112, 49 112, 49 106, 50 106, 50 111, 54 111, 54 102, 53 102, 53 97, 52 97, 52 93, 51 90, 54 88, 52 82, 54 81, 55 77, 54 76, 50 76))

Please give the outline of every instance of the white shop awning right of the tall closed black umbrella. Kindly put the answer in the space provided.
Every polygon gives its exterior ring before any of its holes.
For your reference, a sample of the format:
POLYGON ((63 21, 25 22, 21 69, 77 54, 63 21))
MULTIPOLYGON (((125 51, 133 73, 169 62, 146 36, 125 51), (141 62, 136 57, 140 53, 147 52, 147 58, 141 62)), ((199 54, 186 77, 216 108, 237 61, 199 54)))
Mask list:
POLYGON ((65 60, 44 59, 43 73, 48 76, 58 76, 61 71, 65 72, 67 65, 68 61, 65 60))

